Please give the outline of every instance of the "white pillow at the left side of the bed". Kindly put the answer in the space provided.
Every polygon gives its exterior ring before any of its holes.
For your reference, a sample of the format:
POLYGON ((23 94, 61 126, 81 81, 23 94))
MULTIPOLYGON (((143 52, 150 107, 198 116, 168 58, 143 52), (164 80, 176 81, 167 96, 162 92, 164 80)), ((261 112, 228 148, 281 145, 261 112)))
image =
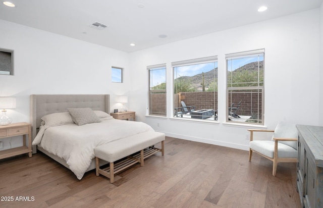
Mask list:
POLYGON ((74 124, 69 112, 48 114, 41 117, 41 120, 41 125, 46 127, 74 124))

